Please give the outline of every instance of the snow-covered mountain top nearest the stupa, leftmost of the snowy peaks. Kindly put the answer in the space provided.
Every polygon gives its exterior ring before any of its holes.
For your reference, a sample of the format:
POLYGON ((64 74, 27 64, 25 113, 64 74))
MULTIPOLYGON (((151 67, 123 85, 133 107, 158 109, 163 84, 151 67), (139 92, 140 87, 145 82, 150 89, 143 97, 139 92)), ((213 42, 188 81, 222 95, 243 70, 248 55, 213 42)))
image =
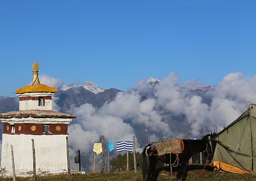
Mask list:
POLYGON ((84 84, 77 84, 77 83, 68 84, 68 85, 62 86, 61 90, 66 91, 70 88, 81 87, 81 86, 83 86, 86 90, 93 92, 94 94, 98 94, 100 92, 105 91, 105 89, 99 87, 98 85, 93 83, 93 81, 91 80, 86 81, 84 84))

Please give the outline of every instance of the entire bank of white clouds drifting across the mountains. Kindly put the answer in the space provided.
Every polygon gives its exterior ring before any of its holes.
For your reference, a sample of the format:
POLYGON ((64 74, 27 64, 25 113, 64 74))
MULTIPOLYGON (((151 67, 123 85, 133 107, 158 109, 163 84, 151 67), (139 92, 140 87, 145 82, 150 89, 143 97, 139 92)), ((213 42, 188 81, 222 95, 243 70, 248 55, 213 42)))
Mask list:
MULTIPOLYGON (((59 79, 43 75, 40 80, 42 84, 61 87, 59 79)), ((93 158, 93 143, 100 142, 101 135, 105 136, 105 143, 132 141, 135 131, 126 120, 152 130, 151 136, 162 133, 165 137, 185 138, 185 135, 171 132, 170 125, 161 116, 161 110, 177 116, 185 115, 191 124, 191 135, 199 137, 202 128, 217 126, 222 129, 223 124, 227 126, 234 121, 249 108, 250 102, 256 103, 255 92, 256 77, 247 77, 241 72, 230 73, 213 91, 207 93, 212 97, 210 105, 204 103, 202 97, 193 96, 188 88, 182 87, 179 77, 173 72, 158 84, 140 80, 127 92, 117 93, 114 101, 105 103, 100 109, 93 108, 91 104, 73 108, 77 118, 69 126, 70 156, 75 157, 76 151, 81 150, 86 157, 93 158)), ((139 149, 143 145, 137 146, 139 149)), ((88 161, 90 167, 86 169, 90 170, 93 159, 88 161)), ((72 164, 73 168, 77 167, 72 164)))

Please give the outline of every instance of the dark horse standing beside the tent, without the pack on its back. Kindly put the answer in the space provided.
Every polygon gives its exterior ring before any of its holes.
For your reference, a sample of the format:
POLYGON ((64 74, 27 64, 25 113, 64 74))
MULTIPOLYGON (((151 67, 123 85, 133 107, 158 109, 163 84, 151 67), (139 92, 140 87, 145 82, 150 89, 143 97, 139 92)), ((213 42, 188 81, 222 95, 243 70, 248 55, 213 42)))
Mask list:
POLYGON ((156 149, 154 149, 153 144, 148 144, 143 150, 143 162, 142 162, 142 174, 145 180, 157 180, 155 174, 155 167, 158 160, 166 164, 176 164, 179 167, 177 173, 177 180, 182 176, 182 180, 186 180, 187 170, 186 164, 192 155, 202 152, 207 160, 212 160, 213 151, 212 147, 207 139, 208 135, 204 136, 202 139, 183 139, 184 150, 179 154, 166 153, 164 155, 158 155, 156 149), (147 167, 146 152, 148 154, 149 166, 147 167), (171 158, 170 158, 171 157, 171 158))

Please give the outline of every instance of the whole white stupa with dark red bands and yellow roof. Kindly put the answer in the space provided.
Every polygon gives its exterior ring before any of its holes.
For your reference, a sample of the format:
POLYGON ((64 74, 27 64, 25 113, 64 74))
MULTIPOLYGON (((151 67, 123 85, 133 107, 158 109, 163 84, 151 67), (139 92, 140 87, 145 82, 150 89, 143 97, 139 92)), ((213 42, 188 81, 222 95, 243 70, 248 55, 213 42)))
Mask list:
POLYGON ((18 176, 33 174, 34 139, 37 173, 67 172, 66 137, 68 124, 75 116, 52 111, 54 87, 40 84, 39 65, 33 64, 30 85, 16 91, 19 111, 0 114, 3 122, 1 167, 12 175, 11 145, 13 146, 15 172, 18 176))

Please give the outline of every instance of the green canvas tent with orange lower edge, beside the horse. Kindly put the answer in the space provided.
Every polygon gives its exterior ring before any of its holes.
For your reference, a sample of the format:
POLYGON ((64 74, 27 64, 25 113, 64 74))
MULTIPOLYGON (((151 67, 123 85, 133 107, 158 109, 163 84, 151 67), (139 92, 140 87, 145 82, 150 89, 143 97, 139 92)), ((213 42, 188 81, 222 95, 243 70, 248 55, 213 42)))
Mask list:
POLYGON ((250 104, 215 138, 213 164, 229 172, 256 174, 256 104, 250 104))

